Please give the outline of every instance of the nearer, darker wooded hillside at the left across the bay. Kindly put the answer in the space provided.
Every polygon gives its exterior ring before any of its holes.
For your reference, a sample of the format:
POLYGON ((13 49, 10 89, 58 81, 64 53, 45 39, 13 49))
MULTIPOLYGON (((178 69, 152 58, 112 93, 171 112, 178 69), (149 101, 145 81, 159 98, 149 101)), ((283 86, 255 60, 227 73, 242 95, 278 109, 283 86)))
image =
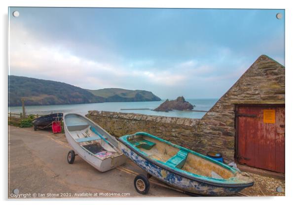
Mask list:
POLYGON ((8 76, 8 106, 105 102, 104 98, 67 83, 31 77, 8 76))

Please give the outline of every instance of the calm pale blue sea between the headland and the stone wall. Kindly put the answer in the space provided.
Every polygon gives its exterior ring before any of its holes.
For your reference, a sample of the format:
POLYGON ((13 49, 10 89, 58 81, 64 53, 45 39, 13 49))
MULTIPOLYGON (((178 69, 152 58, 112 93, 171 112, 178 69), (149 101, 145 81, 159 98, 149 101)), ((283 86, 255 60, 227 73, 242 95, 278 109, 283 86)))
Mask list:
MULTIPOLYGON (((195 105, 194 110, 208 111, 218 99, 186 99, 192 105, 195 105)), ((90 104, 63 104, 63 105, 38 105, 26 106, 27 114, 50 114, 55 112, 78 112, 83 115, 87 114, 89 110, 99 111, 114 111, 126 113, 139 113, 147 115, 160 115, 167 117, 186 117, 186 118, 201 118, 205 112, 193 111, 170 111, 170 112, 157 112, 153 110, 120 110, 132 108, 148 108, 154 109, 158 107, 163 101, 154 102, 104 102, 104 103, 90 103, 90 104)), ((8 112, 20 113, 22 112, 21 106, 8 107, 8 112)))

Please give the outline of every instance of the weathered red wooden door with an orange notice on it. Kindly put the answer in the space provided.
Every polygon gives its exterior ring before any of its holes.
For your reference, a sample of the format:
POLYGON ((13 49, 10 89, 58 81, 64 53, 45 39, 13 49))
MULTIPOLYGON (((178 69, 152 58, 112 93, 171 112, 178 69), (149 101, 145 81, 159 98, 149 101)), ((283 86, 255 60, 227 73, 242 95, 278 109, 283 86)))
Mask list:
POLYGON ((236 107, 240 164, 285 173, 285 106, 236 107))

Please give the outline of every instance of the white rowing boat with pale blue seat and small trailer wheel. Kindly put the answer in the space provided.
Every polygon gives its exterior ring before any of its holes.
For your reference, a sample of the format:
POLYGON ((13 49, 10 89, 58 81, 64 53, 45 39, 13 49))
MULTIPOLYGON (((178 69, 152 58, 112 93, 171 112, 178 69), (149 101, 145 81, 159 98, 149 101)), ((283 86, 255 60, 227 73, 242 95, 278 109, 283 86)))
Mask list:
POLYGON ((118 141, 99 125, 77 113, 63 116, 65 135, 74 150, 67 160, 73 164, 75 155, 99 171, 109 171, 125 163, 125 155, 118 149, 118 141))

